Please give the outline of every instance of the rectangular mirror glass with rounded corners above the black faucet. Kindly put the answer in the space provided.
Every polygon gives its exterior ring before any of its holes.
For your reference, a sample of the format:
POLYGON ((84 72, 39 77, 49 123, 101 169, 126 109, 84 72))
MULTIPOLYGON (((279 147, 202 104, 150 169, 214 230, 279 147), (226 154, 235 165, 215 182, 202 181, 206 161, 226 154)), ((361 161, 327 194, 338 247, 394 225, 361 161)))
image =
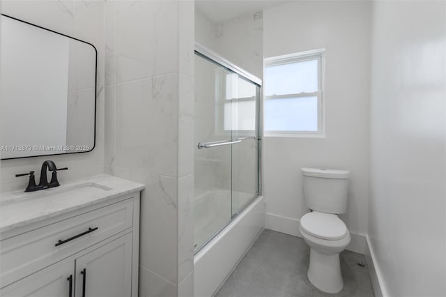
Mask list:
POLYGON ((95 145, 95 47, 1 15, 0 155, 81 153, 95 145))

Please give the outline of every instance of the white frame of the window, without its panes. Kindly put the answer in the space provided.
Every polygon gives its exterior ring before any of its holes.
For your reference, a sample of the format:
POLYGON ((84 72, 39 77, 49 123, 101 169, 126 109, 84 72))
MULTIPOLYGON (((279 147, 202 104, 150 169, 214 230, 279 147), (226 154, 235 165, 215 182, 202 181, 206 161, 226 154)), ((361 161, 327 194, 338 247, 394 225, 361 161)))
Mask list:
MULTIPOLYGON (((263 100, 274 100, 279 98, 314 97, 318 98, 318 130, 317 131, 277 131, 263 128, 265 137, 303 137, 303 138, 325 138, 325 48, 309 50, 295 54, 285 54, 283 56, 272 56, 264 60, 263 67, 279 66, 305 60, 318 59, 318 91, 312 93, 296 93, 285 95, 263 96, 263 100)), ((268 85, 268 81, 264 82, 268 85)), ((266 110, 263 110, 263 119, 266 110)))

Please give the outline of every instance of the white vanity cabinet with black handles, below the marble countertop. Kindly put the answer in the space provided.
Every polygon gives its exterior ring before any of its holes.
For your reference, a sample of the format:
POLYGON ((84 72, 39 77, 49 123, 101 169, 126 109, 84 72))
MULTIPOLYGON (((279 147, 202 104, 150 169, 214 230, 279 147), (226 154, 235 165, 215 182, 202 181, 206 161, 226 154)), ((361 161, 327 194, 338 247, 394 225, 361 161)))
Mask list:
POLYGON ((141 187, 3 229, 0 296, 137 297, 141 187))

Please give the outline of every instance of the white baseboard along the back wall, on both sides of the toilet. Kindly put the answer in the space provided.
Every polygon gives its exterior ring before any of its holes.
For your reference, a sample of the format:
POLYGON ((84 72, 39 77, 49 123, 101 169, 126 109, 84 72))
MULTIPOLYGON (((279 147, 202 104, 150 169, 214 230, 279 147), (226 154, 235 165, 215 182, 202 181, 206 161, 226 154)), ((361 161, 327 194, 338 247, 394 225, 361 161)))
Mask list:
MULTIPOLYGON (((299 231, 300 220, 275 215, 274 213, 265 213, 265 228, 273 231, 282 232, 293 236, 302 237, 299 231)), ((350 232, 351 241, 346 250, 365 254, 367 251, 367 239, 363 234, 350 232)))

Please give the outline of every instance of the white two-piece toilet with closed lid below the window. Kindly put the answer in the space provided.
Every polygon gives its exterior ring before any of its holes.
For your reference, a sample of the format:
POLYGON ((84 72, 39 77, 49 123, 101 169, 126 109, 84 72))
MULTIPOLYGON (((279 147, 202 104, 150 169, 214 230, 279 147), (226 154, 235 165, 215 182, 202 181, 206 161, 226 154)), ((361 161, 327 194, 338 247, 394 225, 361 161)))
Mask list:
POLYGON ((344 287, 339 253, 351 237, 337 216, 346 213, 347 170, 302 168, 305 205, 310 212, 300 219, 300 233, 310 247, 308 279, 325 293, 344 287))

